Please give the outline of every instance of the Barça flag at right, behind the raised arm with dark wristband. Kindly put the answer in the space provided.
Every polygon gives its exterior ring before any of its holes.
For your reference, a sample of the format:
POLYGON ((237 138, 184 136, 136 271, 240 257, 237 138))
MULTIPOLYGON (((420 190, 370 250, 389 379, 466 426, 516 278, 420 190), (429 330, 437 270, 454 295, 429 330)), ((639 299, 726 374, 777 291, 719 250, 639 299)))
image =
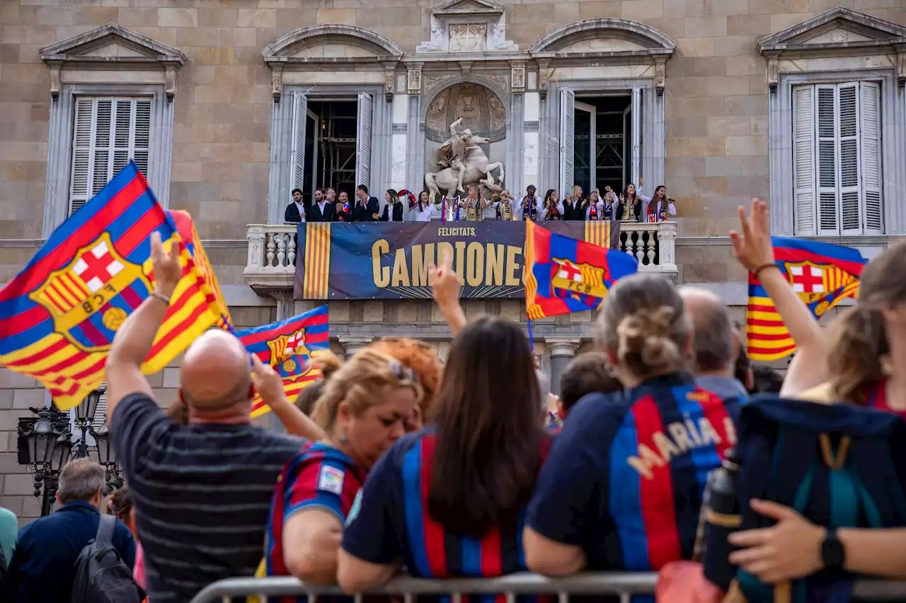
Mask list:
MULTIPOLYGON (((774 237, 780 272, 812 311, 815 319, 847 297, 859 296, 859 278, 868 260, 855 249, 774 237)), ((747 351, 753 360, 776 360, 795 352, 795 342, 761 282, 748 275, 747 351)))

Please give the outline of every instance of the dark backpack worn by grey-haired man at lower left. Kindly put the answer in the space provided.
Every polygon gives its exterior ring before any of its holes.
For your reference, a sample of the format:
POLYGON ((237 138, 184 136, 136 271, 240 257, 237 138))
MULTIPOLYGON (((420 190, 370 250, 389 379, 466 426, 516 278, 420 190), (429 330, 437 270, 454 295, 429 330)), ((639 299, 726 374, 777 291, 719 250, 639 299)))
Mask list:
POLYGON ((132 570, 113 546, 116 517, 101 515, 98 533, 75 560, 71 603, 141 603, 132 570))

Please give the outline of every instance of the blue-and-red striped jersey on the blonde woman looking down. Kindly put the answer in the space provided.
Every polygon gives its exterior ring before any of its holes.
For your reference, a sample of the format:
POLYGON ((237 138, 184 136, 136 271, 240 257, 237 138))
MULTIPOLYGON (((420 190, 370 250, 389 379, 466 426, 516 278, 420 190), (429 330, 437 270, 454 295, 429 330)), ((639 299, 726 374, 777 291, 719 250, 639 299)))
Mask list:
MULTIPOLYGON (((284 561, 283 536, 284 526, 294 513, 320 509, 333 513, 345 524, 364 482, 365 471, 349 456, 322 442, 305 445, 277 478, 271 516, 267 522, 267 575, 287 576, 290 573, 284 561)), ((270 600, 288 603, 306 598, 272 597, 270 600)))

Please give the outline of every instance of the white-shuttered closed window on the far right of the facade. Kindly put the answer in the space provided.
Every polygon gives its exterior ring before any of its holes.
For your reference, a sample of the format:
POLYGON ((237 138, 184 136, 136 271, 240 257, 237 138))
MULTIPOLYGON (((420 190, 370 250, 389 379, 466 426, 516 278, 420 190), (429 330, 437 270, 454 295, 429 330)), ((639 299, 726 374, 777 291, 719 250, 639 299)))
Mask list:
POLYGON ((881 235, 881 86, 793 88, 796 235, 881 235))

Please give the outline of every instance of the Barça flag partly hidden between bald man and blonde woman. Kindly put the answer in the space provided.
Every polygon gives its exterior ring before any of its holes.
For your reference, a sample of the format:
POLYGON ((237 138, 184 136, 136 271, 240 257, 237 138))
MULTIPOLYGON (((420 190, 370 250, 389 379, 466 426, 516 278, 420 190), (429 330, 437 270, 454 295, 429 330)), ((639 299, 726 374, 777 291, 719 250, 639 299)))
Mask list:
MULTIPOLYGON (((304 388, 321 377, 312 367, 312 358, 329 346, 330 324, 327 306, 255 329, 236 331, 249 353, 269 364, 280 374, 286 397, 293 400, 304 388)), ((270 407, 255 394, 252 416, 264 415, 270 407)))

